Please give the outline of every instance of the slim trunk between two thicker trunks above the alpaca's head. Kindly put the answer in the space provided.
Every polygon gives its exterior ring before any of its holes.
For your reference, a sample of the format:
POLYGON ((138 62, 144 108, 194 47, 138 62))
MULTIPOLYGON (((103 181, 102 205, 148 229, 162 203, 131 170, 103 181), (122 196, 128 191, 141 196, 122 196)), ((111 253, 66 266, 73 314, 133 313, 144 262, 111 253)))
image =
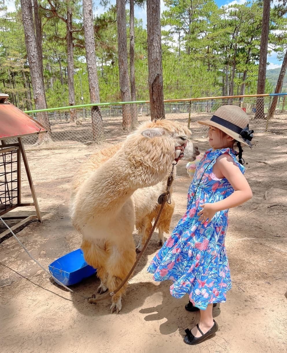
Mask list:
MULTIPOLYGON (((131 98, 136 101, 136 78, 134 73, 134 0, 130 0, 130 74, 131 74, 131 98)), ((132 104, 132 116, 134 125, 138 122, 137 104, 132 104)))

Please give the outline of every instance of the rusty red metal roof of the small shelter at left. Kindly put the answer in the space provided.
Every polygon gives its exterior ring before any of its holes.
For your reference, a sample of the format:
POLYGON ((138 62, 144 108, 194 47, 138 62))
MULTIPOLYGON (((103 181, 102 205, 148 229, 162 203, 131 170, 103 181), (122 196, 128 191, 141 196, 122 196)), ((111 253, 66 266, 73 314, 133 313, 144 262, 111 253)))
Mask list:
POLYGON ((47 128, 38 121, 11 103, 0 103, 0 140, 41 132, 47 132, 47 128))

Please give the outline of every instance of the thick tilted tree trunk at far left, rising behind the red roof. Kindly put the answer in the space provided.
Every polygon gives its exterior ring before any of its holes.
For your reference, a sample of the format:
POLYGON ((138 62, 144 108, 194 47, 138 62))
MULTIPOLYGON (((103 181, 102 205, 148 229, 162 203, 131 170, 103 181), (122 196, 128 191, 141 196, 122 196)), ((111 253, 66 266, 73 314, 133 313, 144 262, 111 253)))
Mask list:
MULTIPOLYGON (((45 89, 43 86, 43 79, 41 78, 41 70, 39 65, 39 56, 36 45, 36 37, 33 25, 32 4, 30 0, 21 0, 22 21, 24 26, 25 44, 27 48, 28 61, 30 67, 30 76, 33 88, 33 96, 36 109, 46 109, 45 89)), ((37 114, 39 122, 48 129, 47 134, 39 134, 39 143, 44 140, 51 140, 49 133, 51 133, 50 122, 47 112, 37 114)))

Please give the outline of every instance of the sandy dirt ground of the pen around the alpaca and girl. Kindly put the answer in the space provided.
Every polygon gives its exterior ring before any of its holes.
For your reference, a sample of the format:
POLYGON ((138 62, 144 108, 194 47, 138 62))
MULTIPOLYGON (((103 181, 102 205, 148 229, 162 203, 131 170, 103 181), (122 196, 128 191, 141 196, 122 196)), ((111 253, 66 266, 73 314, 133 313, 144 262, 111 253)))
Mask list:
MULTIPOLYGON (((185 122, 184 116, 179 120, 185 122)), ((106 121, 107 141, 102 146, 27 152, 43 222, 30 223, 17 235, 45 268, 80 247, 81 237, 69 219, 71 178, 96 149, 125 138, 119 120, 106 121)), ((283 120, 274 126, 286 127, 283 120)), ((206 138, 196 142, 202 152, 208 149, 206 138)), ((157 251, 156 232, 118 315, 109 313, 109 300, 91 305, 54 285, 15 238, 7 236, 0 244, 1 353, 286 352, 287 130, 257 133, 252 150, 245 149, 243 157, 254 196, 229 213, 226 248, 233 288, 226 303, 213 311, 219 324, 215 337, 193 348, 183 343, 184 329, 192 328, 199 314, 184 309, 187 296, 173 298, 169 282, 154 282, 147 273, 157 251)), ((186 209, 190 179, 185 165, 178 163, 171 228, 186 209)), ((24 176, 22 193, 24 202, 31 200, 24 176)), ((134 238, 138 241, 136 232, 134 238)), ((90 296, 98 284, 92 276, 71 288, 90 296)))

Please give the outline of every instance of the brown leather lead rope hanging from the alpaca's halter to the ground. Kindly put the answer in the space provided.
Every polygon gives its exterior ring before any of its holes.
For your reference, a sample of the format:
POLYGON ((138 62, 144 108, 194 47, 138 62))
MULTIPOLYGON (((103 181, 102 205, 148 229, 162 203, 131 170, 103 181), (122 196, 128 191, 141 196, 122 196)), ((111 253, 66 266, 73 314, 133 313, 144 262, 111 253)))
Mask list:
POLYGON ((108 299, 110 297, 113 297, 113 295, 116 294, 117 292, 119 292, 119 290, 122 288, 122 286, 124 286, 126 284, 126 282, 130 279, 134 269, 136 268, 140 258, 143 256, 143 253, 144 253, 145 249, 147 248, 147 246, 149 244, 149 241, 150 241, 150 239, 151 239, 151 237, 152 237, 152 235, 154 233, 154 230, 156 228, 157 222, 159 221, 159 218, 160 218, 160 215, 162 213, 163 207, 164 207, 165 203, 168 201, 168 199, 170 198, 170 188, 171 188, 171 184, 173 182, 173 169, 174 169, 174 166, 177 164, 177 160, 175 160, 176 163, 172 163, 171 173, 170 173, 170 176, 167 178, 166 191, 163 192, 159 196, 158 203, 161 204, 161 207, 160 207, 159 213, 156 216, 153 228, 151 228, 151 231, 149 233, 149 237, 145 241, 143 250, 140 252, 140 254, 139 254, 138 258, 136 259, 136 262, 134 263, 134 265, 131 268, 130 272, 127 274, 126 278, 122 281, 122 283, 119 285, 119 287, 117 287, 113 292, 110 292, 110 293, 108 293, 108 294, 106 294, 104 296, 101 296, 100 298, 96 298, 96 296, 93 294, 92 297, 88 298, 88 302, 90 304, 94 304, 94 303, 97 303, 98 301, 102 301, 102 300, 108 299))

